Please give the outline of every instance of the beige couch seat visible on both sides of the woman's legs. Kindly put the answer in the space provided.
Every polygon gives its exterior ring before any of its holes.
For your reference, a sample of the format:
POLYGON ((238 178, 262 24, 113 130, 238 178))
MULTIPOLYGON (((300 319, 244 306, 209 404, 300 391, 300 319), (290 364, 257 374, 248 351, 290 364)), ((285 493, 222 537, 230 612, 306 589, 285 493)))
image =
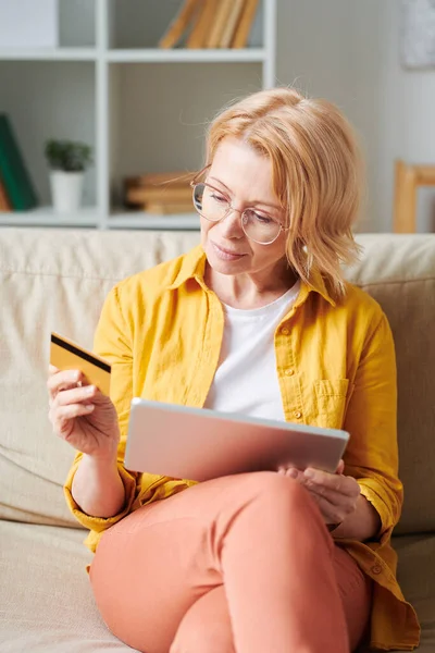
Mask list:
MULTIPOLYGON (((133 651, 101 620, 85 571, 80 529, 0 521, 2 653, 133 651)), ((399 578, 422 624, 419 652, 435 650, 435 535, 395 538, 399 578)), ((366 653, 360 652, 360 653, 366 653)))

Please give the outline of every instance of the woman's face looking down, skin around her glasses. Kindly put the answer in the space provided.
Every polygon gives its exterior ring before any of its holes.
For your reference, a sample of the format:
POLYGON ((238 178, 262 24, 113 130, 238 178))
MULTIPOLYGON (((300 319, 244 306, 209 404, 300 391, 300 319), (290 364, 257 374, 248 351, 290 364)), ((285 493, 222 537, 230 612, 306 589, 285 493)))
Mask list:
POLYGON ((272 274, 276 264, 285 261, 286 233, 282 231, 271 245, 260 245, 246 236, 240 219, 241 211, 254 208, 260 215, 285 225, 285 213, 272 186, 270 159, 227 137, 220 143, 204 181, 237 209, 220 222, 201 217, 201 243, 209 264, 221 274, 272 274))

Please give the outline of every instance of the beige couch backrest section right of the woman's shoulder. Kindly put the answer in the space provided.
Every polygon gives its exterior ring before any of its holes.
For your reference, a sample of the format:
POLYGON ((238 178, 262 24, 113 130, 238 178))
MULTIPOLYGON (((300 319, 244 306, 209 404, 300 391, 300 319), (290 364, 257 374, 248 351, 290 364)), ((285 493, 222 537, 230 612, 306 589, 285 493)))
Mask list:
POLYGON ((435 530, 435 234, 361 235, 348 279, 384 309, 395 338, 403 512, 396 534, 435 530))

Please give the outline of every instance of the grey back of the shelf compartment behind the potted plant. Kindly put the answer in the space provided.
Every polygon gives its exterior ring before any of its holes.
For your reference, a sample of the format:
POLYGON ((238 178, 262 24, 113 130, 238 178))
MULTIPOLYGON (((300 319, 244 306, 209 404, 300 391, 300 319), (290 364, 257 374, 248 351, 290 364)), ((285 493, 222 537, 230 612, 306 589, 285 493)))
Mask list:
MULTIPOLYGON (((46 140, 82 140, 95 151, 95 74, 88 62, 0 62, 0 113, 10 115, 42 206, 49 205, 46 140), (78 98, 78 101, 75 101, 78 98)), ((96 170, 85 175, 84 204, 95 204, 96 170)))

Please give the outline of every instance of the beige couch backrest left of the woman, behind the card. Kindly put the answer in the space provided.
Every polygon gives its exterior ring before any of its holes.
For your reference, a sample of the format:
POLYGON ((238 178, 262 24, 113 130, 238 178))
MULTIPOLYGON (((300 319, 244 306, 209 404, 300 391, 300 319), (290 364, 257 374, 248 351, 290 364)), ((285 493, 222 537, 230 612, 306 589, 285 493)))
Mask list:
POLYGON ((198 241, 197 232, 0 229, 0 517, 78 526, 62 492, 74 449, 48 420, 50 332, 91 348, 116 281, 198 241))

